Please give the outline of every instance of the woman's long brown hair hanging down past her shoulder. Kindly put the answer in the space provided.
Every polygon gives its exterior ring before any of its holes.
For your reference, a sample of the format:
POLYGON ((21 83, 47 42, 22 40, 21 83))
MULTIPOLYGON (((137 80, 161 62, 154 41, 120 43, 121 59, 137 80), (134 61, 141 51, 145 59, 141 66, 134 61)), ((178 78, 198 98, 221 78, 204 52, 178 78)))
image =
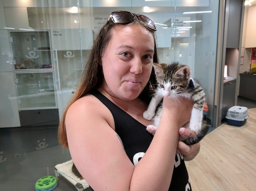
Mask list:
MULTIPOLYGON (((135 24, 135 23, 139 23, 140 25, 143 25, 145 28, 147 28, 147 26, 139 20, 135 20, 134 22, 132 22, 130 24, 135 24)), ((100 31, 96 37, 96 40, 93 43, 92 50, 90 51, 88 61, 86 62, 86 65, 85 65, 85 70, 83 71, 83 75, 81 76, 81 79, 78 84, 78 87, 76 88, 75 94, 73 95, 70 102, 66 106, 66 109, 63 112, 63 117, 61 118, 61 121, 59 123, 59 128, 58 128, 58 139, 59 139, 59 142, 65 148, 68 148, 68 140, 67 140, 66 126, 65 126, 66 112, 67 112, 68 108, 76 100, 83 97, 86 93, 88 93, 93 88, 98 88, 102 84, 102 80, 103 80, 103 71, 102 71, 102 66, 101 66, 102 56, 103 56, 105 49, 107 48, 107 45, 112 37, 113 26, 114 25, 110 25, 109 22, 107 22, 100 29, 100 31)), ((152 34, 153 34, 153 32, 152 32, 152 34)), ((153 38, 154 38, 153 62, 158 63, 158 55, 157 55, 157 50, 156 50, 156 39, 155 39, 154 34, 153 34, 153 38)), ((152 70, 149 81, 139 97, 142 100, 149 102, 149 100, 150 100, 149 92, 152 89, 154 89, 155 84, 156 84, 156 81, 155 81, 155 76, 154 76, 154 70, 152 70)))

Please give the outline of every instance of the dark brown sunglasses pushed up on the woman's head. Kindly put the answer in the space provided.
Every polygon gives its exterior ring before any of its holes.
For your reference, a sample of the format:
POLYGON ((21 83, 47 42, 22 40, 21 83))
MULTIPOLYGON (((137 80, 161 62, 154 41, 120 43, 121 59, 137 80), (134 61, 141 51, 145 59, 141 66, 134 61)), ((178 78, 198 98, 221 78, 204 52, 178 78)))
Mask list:
POLYGON ((129 23, 134 22, 135 16, 138 20, 141 20, 143 23, 147 25, 150 30, 156 31, 156 24, 154 23, 151 18, 141 15, 141 14, 134 14, 127 11, 115 11, 112 12, 109 16, 109 22, 113 22, 115 24, 127 25, 129 23))

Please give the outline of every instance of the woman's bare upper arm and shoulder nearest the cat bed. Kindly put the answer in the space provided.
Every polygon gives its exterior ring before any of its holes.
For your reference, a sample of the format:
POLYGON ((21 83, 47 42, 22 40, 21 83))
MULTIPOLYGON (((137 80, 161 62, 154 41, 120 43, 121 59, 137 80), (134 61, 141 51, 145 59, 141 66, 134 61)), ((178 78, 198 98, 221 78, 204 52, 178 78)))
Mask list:
POLYGON ((71 157, 95 190, 129 190, 134 166, 113 124, 110 111, 92 96, 77 100, 66 114, 71 157))

